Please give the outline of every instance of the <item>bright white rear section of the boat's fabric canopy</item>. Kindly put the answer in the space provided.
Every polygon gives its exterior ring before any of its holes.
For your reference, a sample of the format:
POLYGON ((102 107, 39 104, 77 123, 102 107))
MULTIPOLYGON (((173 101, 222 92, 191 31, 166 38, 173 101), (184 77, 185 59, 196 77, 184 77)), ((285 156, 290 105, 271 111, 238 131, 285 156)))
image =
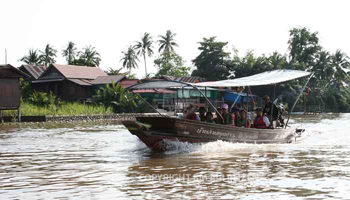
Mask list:
POLYGON ((280 69, 273 71, 266 71, 255 75, 241 77, 229 80, 218 80, 208 82, 192 83, 196 86, 211 86, 211 87, 237 87, 237 86, 253 86, 253 85, 265 85, 273 84, 278 82, 284 82, 287 80, 303 77, 310 75, 311 72, 291 70, 291 69, 280 69))

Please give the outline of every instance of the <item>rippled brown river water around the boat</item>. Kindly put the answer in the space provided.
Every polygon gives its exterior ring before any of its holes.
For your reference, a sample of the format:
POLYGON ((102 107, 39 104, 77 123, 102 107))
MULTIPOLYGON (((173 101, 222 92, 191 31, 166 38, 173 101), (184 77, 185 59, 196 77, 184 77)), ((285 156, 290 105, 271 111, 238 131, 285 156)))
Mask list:
POLYGON ((2 199, 350 199, 350 114, 295 116, 292 144, 172 141, 117 121, 0 126, 2 199))

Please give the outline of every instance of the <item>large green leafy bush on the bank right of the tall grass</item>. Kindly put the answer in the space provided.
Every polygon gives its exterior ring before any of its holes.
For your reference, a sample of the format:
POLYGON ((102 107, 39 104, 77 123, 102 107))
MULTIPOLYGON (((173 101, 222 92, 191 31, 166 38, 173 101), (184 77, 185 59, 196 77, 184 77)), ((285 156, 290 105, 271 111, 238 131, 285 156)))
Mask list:
POLYGON ((93 99, 96 103, 111 106, 116 113, 149 111, 141 99, 124 89, 120 83, 115 85, 112 82, 110 86, 107 84, 105 88, 99 88, 93 99))

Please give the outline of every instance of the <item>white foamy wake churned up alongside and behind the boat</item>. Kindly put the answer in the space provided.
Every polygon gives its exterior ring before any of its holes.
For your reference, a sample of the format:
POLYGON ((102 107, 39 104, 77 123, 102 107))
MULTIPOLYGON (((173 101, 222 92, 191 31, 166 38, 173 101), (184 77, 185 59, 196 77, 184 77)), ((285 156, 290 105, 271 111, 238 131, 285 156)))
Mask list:
POLYGON ((164 140, 163 145, 166 149, 165 154, 175 153, 211 153, 211 152, 257 152, 257 151, 288 151, 291 148, 299 148, 302 146, 327 145, 341 143, 348 145, 350 135, 347 134, 350 129, 349 114, 343 114, 340 118, 324 118, 317 123, 306 122, 301 125, 294 123, 293 128, 304 128, 302 136, 297 139, 296 143, 285 144, 250 144, 250 143, 232 143, 228 141, 212 141, 203 143, 189 143, 178 140, 164 140))

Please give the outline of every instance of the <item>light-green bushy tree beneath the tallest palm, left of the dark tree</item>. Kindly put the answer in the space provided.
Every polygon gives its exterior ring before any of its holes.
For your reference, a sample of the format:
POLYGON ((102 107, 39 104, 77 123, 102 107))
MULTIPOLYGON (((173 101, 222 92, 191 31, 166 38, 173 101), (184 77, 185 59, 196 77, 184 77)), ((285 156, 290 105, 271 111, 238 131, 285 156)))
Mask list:
POLYGON ((154 60, 154 64, 158 68, 156 77, 160 75, 189 76, 190 67, 184 66, 183 58, 174 51, 163 51, 154 60))

